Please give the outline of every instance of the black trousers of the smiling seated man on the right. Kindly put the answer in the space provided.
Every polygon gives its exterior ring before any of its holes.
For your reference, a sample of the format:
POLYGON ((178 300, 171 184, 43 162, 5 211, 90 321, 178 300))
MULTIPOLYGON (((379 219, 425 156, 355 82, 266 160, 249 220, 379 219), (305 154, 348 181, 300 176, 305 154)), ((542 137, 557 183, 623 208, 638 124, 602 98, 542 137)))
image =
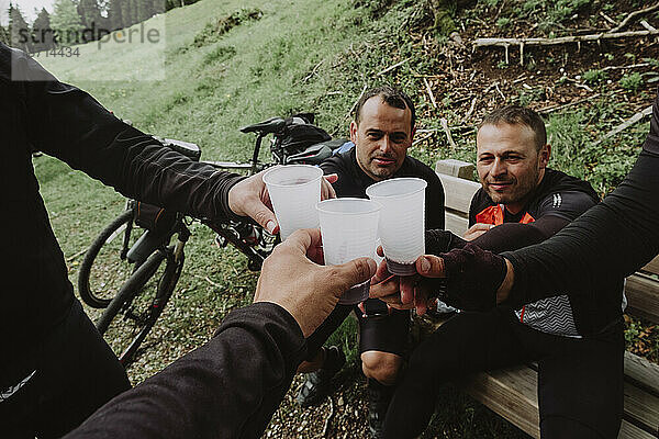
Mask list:
POLYGON ((601 337, 555 336, 520 323, 512 309, 460 313, 412 353, 384 421, 386 438, 421 435, 447 382, 470 373, 538 362, 540 434, 617 438, 623 413, 623 323, 601 337))

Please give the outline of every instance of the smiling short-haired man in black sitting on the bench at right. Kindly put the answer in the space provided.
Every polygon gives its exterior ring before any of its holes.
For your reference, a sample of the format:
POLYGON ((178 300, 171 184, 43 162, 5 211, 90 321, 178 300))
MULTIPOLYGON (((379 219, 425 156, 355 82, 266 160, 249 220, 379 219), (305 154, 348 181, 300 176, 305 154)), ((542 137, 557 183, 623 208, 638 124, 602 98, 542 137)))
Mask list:
MULTIPOLYGON (((482 188, 472 199, 466 237, 478 248, 504 251, 540 243, 597 202, 590 184, 547 168, 545 125, 528 109, 507 106, 485 117, 477 148, 482 188)), ((471 248, 447 233, 431 232, 429 252, 448 247, 471 248)), ((447 381, 530 361, 538 362, 544 438, 617 436, 623 398, 622 286, 618 278, 593 289, 593 294, 617 297, 616 318, 597 334, 582 325, 581 309, 563 291, 498 307, 493 300, 480 308, 458 303, 466 311, 414 352, 387 415, 384 436, 407 438, 423 431, 447 381)))

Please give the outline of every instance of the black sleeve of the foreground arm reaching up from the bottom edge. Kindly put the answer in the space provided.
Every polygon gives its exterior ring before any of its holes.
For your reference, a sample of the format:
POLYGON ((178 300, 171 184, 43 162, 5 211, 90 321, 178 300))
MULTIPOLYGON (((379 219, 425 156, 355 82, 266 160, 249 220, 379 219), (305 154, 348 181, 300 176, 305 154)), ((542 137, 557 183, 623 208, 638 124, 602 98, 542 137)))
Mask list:
POLYGON ((234 311, 206 345, 116 396, 66 438, 258 438, 305 352, 282 307, 234 311))

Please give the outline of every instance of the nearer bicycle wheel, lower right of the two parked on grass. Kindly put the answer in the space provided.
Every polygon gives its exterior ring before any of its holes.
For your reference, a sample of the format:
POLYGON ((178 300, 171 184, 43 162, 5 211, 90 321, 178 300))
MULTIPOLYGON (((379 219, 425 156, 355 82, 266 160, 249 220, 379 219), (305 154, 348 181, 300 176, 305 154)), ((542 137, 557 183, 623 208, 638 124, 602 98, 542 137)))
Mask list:
POLYGON ((154 252, 139 266, 97 323, 124 367, 135 360, 179 280, 185 258, 176 263, 171 249, 154 252))

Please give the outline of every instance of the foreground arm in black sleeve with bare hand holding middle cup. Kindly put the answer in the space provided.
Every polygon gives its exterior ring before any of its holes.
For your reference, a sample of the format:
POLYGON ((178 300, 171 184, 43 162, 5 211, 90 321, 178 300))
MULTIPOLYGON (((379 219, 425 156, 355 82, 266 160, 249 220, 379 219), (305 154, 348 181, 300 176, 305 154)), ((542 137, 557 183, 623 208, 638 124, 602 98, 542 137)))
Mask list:
POLYGON ((306 354, 311 333, 376 262, 323 267, 319 229, 298 230, 266 259, 255 303, 215 336, 105 404, 67 439, 259 438, 306 354), (317 263, 316 263, 317 262, 317 263))

